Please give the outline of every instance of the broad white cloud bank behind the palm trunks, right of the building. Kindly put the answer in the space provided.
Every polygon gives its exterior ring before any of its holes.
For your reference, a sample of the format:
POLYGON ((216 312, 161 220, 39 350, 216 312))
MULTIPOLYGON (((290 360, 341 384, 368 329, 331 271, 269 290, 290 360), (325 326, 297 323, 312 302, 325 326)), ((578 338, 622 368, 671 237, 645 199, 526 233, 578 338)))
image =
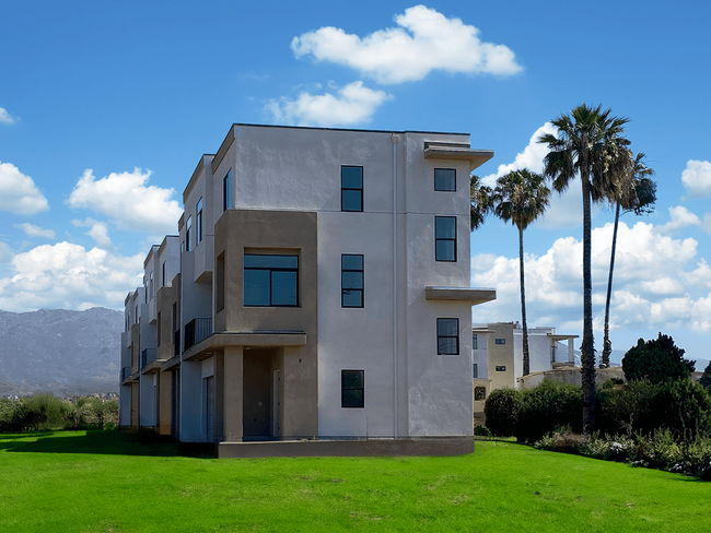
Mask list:
MULTIPOLYGON (((602 330, 613 225, 593 230, 593 307, 602 330)), ((711 271, 696 259, 698 242, 660 235, 652 224, 620 222, 610 308, 613 329, 711 329, 711 271)), ((475 307, 477 322, 518 320, 518 258, 471 259, 473 286, 497 288, 497 300, 475 307)), ((575 324, 582 318, 582 242, 556 240, 543 256, 526 254, 531 324, 575 324)), ((578 330, 573 331, 575 333, 578 330)))

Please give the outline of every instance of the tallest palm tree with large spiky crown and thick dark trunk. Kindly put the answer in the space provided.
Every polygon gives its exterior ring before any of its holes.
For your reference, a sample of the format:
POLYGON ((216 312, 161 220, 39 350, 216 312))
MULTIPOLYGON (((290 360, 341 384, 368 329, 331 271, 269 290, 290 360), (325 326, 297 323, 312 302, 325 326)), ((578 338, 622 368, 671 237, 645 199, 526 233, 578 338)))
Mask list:
POLYGON ((595 340, 593 337, 593 277, 591 265, 591 204, 604 200, 620 176, 629 175, 630 157, 622 117, 611 109, 583 104, 551 123, 558 135, 546 133, 538 142, 548 144, 544 176, 553 189, 563 192, 580 175, 583 187, 583 340, 581 344, 583 384, 583 428, 595 429, 595 340))

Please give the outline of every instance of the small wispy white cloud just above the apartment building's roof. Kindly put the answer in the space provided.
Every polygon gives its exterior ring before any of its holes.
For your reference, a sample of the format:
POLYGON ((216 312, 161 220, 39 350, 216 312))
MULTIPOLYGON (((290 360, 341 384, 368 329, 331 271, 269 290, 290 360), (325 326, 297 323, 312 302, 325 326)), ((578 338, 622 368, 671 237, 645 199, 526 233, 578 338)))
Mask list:
POLYGON ((358 81, 340 88, 337 95, 302 92, 296 99, 270 100, 265 109, 282 123, 351 126, 370 122, 380 105, 389 98, 384 91, 373 91, 358 81))

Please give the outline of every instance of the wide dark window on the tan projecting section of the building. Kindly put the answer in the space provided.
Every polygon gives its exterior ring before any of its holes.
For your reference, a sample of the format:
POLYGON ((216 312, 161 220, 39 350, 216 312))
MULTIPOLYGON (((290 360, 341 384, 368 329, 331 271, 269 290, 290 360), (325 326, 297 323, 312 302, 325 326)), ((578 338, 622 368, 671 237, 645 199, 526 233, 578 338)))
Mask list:
POLYGON ((298 274, 298 256, 245 253, 245 307, 296 307, 298 274))

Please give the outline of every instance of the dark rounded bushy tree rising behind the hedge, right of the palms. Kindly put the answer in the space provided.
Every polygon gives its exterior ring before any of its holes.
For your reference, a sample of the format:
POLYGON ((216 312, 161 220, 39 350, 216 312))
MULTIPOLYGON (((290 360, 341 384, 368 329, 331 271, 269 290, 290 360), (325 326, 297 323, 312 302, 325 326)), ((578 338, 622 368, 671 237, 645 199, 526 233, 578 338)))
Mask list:
POLYGON ((657 339, 637 341, 622 358, 622 370, 628 381, 646 379, 652 383, 688 378, 696 362, 684 358, 684 348, 674 339, 660 332, 657 339))

